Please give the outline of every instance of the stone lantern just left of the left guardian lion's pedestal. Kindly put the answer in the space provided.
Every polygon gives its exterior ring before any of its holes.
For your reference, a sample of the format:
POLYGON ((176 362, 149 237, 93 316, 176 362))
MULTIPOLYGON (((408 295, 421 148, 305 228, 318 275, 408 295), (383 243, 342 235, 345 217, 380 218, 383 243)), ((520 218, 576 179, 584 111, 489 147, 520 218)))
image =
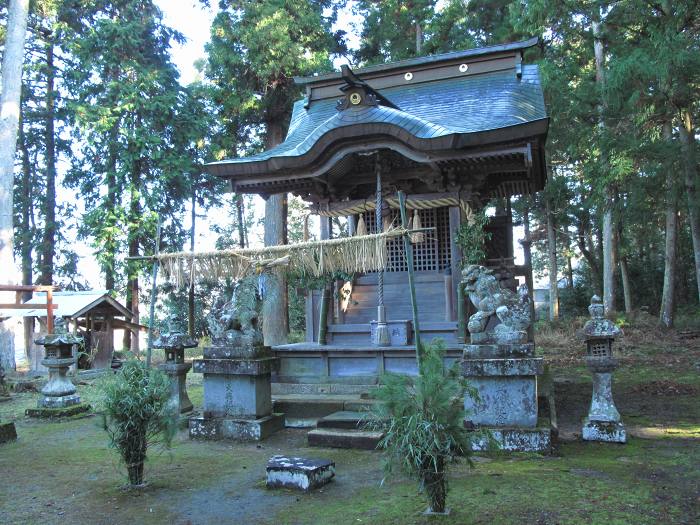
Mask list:
POLYGON ((153 348, 165 351, 165 363, 158 368, 170 378, 170 403, 175 406, 177 414, 183 414, 193 408, 187 395, 187 372, 192 364, 185 362, 185 348, 196 347, 197 340, 179 330, 177 324, 176 318, 171 316, 168 332, 153 342, 153 348))

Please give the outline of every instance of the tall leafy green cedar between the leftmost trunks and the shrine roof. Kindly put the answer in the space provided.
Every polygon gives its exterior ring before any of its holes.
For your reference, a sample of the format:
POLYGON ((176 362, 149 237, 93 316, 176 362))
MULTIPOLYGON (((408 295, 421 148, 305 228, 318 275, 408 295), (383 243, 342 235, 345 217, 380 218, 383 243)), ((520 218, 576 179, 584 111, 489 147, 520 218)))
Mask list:
MULTIPOLYGON (((193 167, 191 151, 181 146, 192 116, 170 62, 171 44, 183 37, 162 23, 151 0, 96 5, 70 50, 75 68, 67 84, 83 163, 68 182, 85 202, 81 233, 93 242, 106 287, 123 282, 124 272, 138 322, 140 266, 119 255, 152 250, 158 216, 167 225, 161 248, 183 240, 179 217, 193 167)), ((128 334, 124 345, 132 346, 128 334)))

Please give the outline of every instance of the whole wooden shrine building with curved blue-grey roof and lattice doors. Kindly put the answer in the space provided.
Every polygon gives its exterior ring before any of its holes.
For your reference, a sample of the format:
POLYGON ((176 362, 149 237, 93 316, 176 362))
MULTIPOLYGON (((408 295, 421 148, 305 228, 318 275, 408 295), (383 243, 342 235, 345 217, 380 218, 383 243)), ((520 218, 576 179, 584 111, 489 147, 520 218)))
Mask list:
MULTIPOLYGON (((297 78, 306 96, 294 105, 285 141, 208 169, 236 192, 301 196, 321 216, 326 239, 332 217, 347 217, 351 234, 397 225, 396 194, 404 191, 412 220, 434 228, 414 244, 421 335, 443 338, 448 359, 456 359, 464 342, 459 319, 469 308, 458 290, 462 221, 497 199, 486 265, 513 284, 530 271, 514 264, 509 199, 546 181, 549 119, 537 66, 523 64, 536 43, 297 78)), ((308 293, 306 341, 273 348, 281 358, 278 392, 362 391, 383 372, 415 371, 403 241, 387 243, 384 271, 337 282, 330 305, 321 291, 308 293), (379 341, 384 322, 389 340, 379 341)))

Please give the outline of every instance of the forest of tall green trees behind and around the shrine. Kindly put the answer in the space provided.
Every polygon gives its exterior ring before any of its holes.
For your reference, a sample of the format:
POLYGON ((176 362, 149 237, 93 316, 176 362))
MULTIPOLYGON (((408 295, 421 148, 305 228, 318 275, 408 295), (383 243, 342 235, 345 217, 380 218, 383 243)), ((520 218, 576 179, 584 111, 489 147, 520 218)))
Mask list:
MULTIPOLYGON (((220 248, 254 242, 251 198, 203 165, 282 141, 301 96, 294 76, 539 36, 525 60, 540 65, 551 117, 549 182, 512 206, 535 272, 549 276, 550 317, 583 313, 593 293, 611 314, 643 308, 664 327, 698 315, 697 2, 183 1, 201 7, 215 13, 210 39, 184 84, 172 59, 184 36, 156 2, 31 3, 14 170, 22 283, 87 287, 77 241, 103 287, 138 312, 150 266, 126 257, 154 252, 159 223, 161 251, 191 249, 201 229, 220 248)), ((2 43, 7 10, 0 1, 2 43)), ((288 242, 302 239, 303 203, 265 207, 287 216, 288 242)), ((293 333, 304 326, 298 284, 293 333)), ((204 334, 212 287, 161 280, 159 318, 189 309, 204 334)))

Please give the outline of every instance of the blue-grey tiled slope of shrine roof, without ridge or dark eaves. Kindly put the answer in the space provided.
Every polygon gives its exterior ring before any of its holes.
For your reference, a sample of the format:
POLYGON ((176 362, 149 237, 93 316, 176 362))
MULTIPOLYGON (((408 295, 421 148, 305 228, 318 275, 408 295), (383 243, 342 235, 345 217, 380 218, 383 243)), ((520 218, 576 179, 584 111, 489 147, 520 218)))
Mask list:
MULTIPOLYGON (((287 138, 278 146, 244 158, 215 164, 261 162, 298 157, 333 129, 358 124, 393 124, 416 138, 471 134, 527 124, 547 118, 537 66, 524 65, 522 77, 514 69, 449 78, 381 90, 400 110, 362 106, 336 110, 337 98, 294 104, 287 138)), ((340 97, 338 97, 340 98, 340 97)))

